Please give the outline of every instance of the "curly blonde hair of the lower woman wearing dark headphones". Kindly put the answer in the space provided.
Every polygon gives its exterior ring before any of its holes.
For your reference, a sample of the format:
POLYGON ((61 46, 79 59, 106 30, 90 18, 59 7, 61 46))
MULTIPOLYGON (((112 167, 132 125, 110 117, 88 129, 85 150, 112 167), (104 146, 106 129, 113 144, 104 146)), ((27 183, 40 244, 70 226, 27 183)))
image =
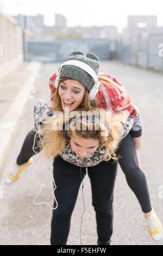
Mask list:
POLYGON ((64 126, 68 120, 70 125, 66 133, 69 138, 74 136, 77 138, 98 139, 99 145, 105 147, 105 161, 110 159, 117 160, 116 149, 120 141, 120 131, 123 129, 120 113, 114 114, 110 110, 92 107, 90 111, 86 112, 86 116, 90 118, 98 116, 100 119, 99 124, 97 124, 97 121, 93 123, 91 120, 81 118, 83 114, 85 115, 85 109, 78 108, 76 111, 72 111, 68 119, 65 117, 66 113, 64 111, 56 113, 54 112, 53 116, 45 119, 43 123, 44 133, 42 143, 39 145, 43 149, 43 156, 47 159, 51 159, 51 157, 54 159, 64 150, 66 145, 70 145, 70 141, 64 135, 64 126), (78 118, 75 118, 72 122, 72 117, 75 116, 78 116, 78 118), (74 129, 76 127, 78 128, 74 129), (82 127, 84 127, 84 130, 82 130, 82 127))

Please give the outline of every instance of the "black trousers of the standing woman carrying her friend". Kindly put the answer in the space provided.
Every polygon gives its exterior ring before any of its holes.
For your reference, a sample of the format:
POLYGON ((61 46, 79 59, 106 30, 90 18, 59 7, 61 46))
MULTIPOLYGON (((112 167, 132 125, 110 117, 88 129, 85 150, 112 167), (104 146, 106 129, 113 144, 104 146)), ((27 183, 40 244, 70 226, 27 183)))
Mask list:
MULTIPOLYGON (((51 245, 66 245, 71 215, 86 168, 82 167, 80 173, 80 167, 64 161, 60 156, 55 157, 53 166, 58 208, 53 210, 51 245)), ((112 201, 116 170, 117 162, 113 161, 102 161, 97 166, 87 168, 91 181, 92 205, 96 212, 98 245, 109 245, 112 235, 112 201)))

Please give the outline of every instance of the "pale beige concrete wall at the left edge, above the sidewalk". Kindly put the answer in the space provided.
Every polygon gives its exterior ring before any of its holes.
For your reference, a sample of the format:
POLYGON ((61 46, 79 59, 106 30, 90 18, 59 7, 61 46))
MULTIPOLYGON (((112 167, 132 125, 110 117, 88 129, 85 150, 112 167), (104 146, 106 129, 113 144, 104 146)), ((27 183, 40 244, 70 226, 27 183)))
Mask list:
POLYGON ((23 62, 22 29, 17 21, 0 11, 0 77, 14 71, 23 62))

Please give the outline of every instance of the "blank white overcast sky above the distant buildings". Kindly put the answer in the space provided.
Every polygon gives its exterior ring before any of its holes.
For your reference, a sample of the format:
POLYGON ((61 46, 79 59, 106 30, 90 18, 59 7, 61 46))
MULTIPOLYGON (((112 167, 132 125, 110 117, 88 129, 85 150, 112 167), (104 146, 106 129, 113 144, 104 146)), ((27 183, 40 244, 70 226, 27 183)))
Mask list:
POLYGON ((0 9, 9 15, 44 16, 46 26, 53 26, 55 13, 66 17, 67 26, 127 27, 128 15, 156 15, 163 26, 162 0, 0 0, 0 9))

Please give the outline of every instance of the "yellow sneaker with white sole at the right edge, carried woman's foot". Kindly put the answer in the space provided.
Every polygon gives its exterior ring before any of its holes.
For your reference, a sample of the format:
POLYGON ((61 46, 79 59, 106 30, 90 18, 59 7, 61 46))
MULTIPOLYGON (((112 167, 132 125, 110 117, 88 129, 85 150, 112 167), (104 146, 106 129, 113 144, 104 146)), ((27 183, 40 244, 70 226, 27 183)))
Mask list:
POLYGON ((161 242, 163 238, 162 225, 153 209, 151 216, 147 217, 146 220, 149 233, 152 236, 153 240, 156 242, 161 242))

